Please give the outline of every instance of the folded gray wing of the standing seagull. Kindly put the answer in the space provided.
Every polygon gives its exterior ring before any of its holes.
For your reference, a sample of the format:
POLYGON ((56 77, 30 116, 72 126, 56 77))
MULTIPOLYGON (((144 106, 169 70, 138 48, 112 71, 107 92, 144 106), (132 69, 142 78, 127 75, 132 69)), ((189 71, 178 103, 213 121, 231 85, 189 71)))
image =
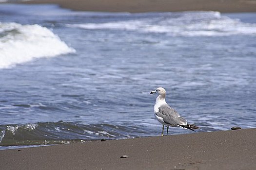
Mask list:
POLYGON ((187 120, 180 117, 178 112, 174 108, 170 107, 168 104, 160 106, 159 111, 156 113, 156 115, 163 118, 163 121, 171 126, 187 124, 187 120))

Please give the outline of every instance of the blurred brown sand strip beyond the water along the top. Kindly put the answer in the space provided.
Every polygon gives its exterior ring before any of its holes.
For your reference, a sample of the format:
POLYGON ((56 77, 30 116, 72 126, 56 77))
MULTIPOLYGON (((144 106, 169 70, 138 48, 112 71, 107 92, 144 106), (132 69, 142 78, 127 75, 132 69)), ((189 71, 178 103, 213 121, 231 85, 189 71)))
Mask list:
POLYGON ((25 3, 56 3, 73 10, 105 12, 256 12, 256 0, 34 0, 25 3))

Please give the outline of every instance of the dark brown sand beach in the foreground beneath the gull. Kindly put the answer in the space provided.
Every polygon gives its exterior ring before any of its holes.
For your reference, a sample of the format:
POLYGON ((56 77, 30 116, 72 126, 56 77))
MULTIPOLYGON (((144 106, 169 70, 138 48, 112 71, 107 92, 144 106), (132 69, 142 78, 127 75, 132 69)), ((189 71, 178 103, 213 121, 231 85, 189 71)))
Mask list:
POLYGON ((3 150, 0 169, 256 170, 256 129, 3 150))

